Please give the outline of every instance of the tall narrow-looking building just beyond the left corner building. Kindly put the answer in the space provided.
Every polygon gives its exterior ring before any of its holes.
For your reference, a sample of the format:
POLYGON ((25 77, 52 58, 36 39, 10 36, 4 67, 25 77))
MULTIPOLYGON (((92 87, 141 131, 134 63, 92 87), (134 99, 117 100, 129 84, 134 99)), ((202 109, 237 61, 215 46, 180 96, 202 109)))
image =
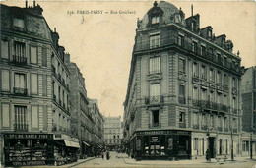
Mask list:
POLYGON ((70 114, 71 114, 71 133, 78 137, 80 143, 79 156, 83 158, 89 155, 91 149, 89 133, 90 111, 89 99, 83 74, 80 72, 76 63, 70 62, 70 54, 65 54, 65 64, 72 76, 70 76, 70 114))

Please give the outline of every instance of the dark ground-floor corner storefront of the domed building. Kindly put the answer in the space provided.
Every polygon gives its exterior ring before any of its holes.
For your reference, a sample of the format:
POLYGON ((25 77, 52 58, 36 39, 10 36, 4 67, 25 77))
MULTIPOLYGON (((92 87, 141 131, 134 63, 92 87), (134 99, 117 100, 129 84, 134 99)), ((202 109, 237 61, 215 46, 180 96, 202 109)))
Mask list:
POLYGON ((138 131, 130 141, 137 159, 190 159, 191 132, 179 130, 138 131))

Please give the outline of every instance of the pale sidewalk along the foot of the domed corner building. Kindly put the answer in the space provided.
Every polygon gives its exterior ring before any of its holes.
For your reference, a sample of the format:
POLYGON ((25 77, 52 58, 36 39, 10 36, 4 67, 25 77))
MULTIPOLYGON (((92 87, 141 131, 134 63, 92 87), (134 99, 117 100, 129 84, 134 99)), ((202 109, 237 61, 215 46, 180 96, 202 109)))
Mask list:
POLYGON ((251 160, 249 157, 235 157, 234 161, 227 159, 225 162, 223 160, 217 161, 216 159, 211 159, 211 162, 206 161, 204 158, 195 159, 195 160, 179 160, 179 161, 169 161, 169 160, 141 160, 136 161, 135 159, 129 158, 127 154, 120 154, 119 157, 122 157, 126 164, 133 165, 169 165, 169 164, 179 164, 179 165, 194 165, 194 164, 231 164, 238 162, 256 162, 256 159, 251 160))

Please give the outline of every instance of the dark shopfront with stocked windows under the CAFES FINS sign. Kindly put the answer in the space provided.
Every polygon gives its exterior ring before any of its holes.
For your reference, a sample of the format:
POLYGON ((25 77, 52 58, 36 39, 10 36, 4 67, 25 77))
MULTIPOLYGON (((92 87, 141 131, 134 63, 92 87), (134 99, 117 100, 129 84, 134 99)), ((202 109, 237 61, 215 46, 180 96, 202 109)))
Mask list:
POLYGON ((4 134, 7 167, 53 165, 52 134, 4 134))

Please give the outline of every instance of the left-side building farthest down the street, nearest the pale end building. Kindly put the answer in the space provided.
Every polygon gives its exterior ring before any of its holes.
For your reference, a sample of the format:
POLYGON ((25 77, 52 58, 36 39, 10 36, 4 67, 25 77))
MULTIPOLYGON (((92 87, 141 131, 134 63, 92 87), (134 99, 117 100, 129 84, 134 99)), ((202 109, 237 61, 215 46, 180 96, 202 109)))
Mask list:
POLYGON ((98 108, 97 99, 89 99, 90 111, 90 144, 92 153, 99 154, 104 148, 104 119, 98 108))

